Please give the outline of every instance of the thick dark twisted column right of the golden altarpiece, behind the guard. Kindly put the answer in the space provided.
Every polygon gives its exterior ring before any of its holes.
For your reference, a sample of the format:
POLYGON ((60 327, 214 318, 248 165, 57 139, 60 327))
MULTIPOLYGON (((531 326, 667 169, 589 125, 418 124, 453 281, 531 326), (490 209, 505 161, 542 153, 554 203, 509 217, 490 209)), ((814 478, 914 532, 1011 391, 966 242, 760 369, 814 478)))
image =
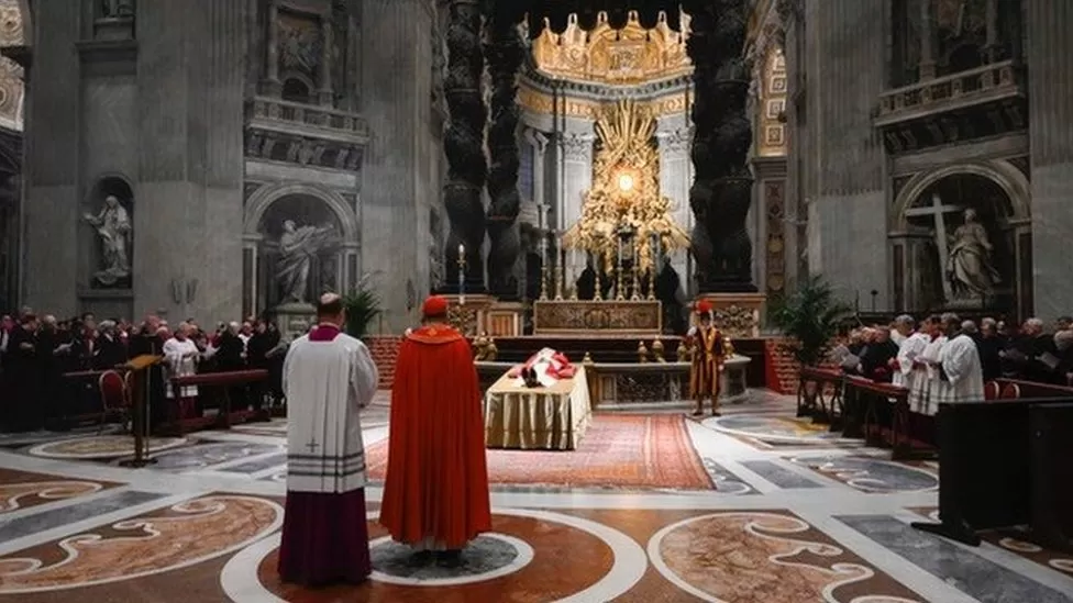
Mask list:
POLYGON ((746 158, 752 129, 745 112, 750 66, 742 56, 744 0, 692 0, 686 46, 694 64, 693 165, 689 205, 696 217, 693 256, 701 292, 756 291, 745 217, 752 200, 746 158))

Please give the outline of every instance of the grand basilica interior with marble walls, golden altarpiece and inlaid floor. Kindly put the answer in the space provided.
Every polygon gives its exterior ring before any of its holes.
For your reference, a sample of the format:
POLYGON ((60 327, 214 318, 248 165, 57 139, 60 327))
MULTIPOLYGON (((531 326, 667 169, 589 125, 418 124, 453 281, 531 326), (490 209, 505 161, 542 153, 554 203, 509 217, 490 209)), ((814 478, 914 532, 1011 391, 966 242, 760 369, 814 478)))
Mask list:
POLYGON ((1073 602, 1071 24, 1068 0, 0 0, 0 603, 1073 602), (284 356, 170 376, 204 379, 197 407, 151 424, 155 365, 49 330, 286 350, 324 292, 379 373, 373 573, 311 589, 276 569, 284 356), (378 523, 432 293, 474 350, 493 505, 450 568, 378 523), (693 412, 707 306, 719 405, 693 412), (952 313, 1042 325, 1049 372, 1004 350, 987 402, 937 415, 886 365, 801 354, 952 313), (575 376, 511 391, 543 349, 575 376))

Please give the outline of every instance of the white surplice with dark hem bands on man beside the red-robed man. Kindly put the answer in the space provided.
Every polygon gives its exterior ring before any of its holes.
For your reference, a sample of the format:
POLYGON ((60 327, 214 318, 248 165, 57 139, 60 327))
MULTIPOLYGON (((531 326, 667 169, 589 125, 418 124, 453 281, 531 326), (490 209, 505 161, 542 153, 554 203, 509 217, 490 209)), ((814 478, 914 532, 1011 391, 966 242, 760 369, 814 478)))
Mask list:
POLYGON ((284 360, 287 397, 287 490, 342 493, 365 487, 359 410, 373 400, 379 372, 361 340, 302 335, 284 360))

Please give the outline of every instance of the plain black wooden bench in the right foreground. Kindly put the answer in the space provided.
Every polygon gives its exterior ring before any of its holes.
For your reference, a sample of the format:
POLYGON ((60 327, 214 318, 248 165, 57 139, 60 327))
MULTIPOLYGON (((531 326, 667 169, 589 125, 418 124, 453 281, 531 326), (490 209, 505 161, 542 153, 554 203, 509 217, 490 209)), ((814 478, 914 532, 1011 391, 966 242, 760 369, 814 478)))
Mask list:
POLYGON ((940 523, 912 526, 977 546, 977 531, 1031 525, 1049 545, 1068 548, 1073 529, 1071 403, 1073 397, 940 404, 940 523), (1061 417, 1058 432, 1055 416, 1061 417), (1055 451, 1065 456, 1055 457, 1055 451))

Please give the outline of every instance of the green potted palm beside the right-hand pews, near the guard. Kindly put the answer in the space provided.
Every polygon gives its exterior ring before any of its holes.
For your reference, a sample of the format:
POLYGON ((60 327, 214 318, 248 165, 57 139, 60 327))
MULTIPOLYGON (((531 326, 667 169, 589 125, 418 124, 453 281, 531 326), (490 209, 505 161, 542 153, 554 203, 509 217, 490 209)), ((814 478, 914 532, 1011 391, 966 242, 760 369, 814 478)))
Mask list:
MULTIPOLYGON (((771 321, 787 337, 784 348, 794 356, 799 368, 816 367, 828 357, 839 325, 851 312, 830 284, 818 277, 808 277, 774 309, 771 321)), ((804 394, 807 406, 815 407, 816 383, 808 386, 812 391, 806 389, 799 395, 804 394)))

